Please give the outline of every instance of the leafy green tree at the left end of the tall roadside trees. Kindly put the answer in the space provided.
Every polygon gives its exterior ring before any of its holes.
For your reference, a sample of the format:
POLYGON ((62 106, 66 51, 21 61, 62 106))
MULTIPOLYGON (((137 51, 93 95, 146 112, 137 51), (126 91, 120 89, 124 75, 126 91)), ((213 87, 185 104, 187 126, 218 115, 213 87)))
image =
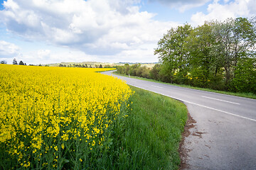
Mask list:
POLYGON ((163 65, 161 72, 174 82, 175 73, 180 72, 184 76, 188 73, 189 53, 184 44, 191 33, 191 26, 186 24, 171 28, 158 42, 154 55, 159 55, 159 62, 163 65))

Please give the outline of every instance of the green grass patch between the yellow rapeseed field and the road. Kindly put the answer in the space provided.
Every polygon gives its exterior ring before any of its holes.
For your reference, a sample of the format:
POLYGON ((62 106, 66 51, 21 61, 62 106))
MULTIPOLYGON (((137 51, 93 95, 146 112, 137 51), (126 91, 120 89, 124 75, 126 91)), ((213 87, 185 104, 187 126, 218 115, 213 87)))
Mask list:
POLYGON ((178 169, 186 106, 131 86, 132 111, 116 123, 110 152, 99 169, 178 169))

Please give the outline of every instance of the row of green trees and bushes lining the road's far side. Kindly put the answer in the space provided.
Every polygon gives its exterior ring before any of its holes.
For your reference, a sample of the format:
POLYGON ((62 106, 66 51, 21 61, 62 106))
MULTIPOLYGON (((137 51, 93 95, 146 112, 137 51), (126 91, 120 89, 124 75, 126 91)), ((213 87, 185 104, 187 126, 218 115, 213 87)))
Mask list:
POLYGON ((118 72, 131 75, 136 72, 137 76, 170 83, 256 94, 255 30, 255 18, 229 18, 223 22, 206 22, 196 28, 188 24, 171 28, 154 50, 160 64, 151 70, 126 65, 118 72), (141 75, 139 70, 143 70, 141 75))

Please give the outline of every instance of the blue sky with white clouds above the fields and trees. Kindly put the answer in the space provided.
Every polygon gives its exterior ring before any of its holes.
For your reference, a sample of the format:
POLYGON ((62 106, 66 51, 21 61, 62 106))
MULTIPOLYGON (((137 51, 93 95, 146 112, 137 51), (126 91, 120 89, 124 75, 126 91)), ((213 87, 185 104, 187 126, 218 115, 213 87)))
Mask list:
POLYGON ((167 30, 254 13, 255 0, 0 0, 0 60, 158 62, 167 30))

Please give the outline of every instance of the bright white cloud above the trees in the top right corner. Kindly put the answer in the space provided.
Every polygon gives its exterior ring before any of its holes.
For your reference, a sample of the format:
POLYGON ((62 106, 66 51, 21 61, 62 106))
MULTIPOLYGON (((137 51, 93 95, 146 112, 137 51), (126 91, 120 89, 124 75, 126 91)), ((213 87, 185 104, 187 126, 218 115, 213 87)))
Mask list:
POLYGON ((235 0, 224 1, 225 4, 220 4, 218 0, 213 1, 208 5, 208 13, 198 12, 191 16, 191 23, 194 26, 202 25, 204 21, 218 20, 224 21, 227 18, 247 17, 255 15, 256 2, 255 0, 235 0))

